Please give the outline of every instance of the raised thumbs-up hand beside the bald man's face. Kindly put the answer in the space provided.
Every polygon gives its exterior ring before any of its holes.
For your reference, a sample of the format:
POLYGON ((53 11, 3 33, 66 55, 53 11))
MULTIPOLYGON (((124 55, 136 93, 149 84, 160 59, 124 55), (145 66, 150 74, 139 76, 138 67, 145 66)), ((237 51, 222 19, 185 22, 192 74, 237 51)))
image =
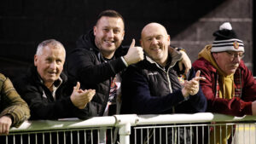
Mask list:
POLYGON ((131 46, 124 56, 125 61, 127 62, 128 66, 131 64, 135 64, 140 60, 144 59, 144 52, 142 47, 135 47, 135 40, 132 39, 131 46))

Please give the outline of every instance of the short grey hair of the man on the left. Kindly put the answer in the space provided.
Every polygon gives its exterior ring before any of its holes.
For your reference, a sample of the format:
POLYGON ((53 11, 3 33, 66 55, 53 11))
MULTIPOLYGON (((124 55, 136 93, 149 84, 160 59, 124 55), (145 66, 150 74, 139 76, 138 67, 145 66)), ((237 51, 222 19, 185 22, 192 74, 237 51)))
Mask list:
MULTIPOLYGON (((47 39, 47 40, 38 44, 38 49, 37 49, 36 55, 42 55, 44 47, 48 46, 49 44, 54 45, 54 46, 59 45, 64 49, 64 46, 61 42, 59 42, 55 39, 47 39)), ((64 51, 66 53, 65 49, 64 49, 64 51)))

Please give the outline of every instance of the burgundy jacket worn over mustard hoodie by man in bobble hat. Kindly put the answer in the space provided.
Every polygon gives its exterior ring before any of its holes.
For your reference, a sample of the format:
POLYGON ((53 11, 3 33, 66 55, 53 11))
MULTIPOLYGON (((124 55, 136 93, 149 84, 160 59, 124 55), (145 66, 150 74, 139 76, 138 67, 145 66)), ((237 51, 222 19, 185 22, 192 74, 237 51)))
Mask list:
POLYGON ((207 112, 218 112, 233 116, 252 115, 252 102, 256 100, 256 80, 241 60, 234 74, 235 96, 228 100, 218 97, 218 73, 212 64, 200 58, 193 63, 195 71, 201 70, 201 89, 207 97, 207 112))

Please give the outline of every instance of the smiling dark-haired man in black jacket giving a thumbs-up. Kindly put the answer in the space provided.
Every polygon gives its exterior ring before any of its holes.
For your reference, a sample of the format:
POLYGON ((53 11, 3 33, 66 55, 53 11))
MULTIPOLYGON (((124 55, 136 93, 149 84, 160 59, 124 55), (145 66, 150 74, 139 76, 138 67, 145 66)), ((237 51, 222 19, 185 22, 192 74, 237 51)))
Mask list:
POLYGON ((79 81, 82 89, 96 89, 85 107, 91 117, 119 113, 119 74, 143 60, 143 49, 136 47, 134 40, 129 49, 121 45, 124 35, 123 17, 114 10, 105 10, 93 30, 79 37, 77 49, 67 58, 68 76, 79 81))

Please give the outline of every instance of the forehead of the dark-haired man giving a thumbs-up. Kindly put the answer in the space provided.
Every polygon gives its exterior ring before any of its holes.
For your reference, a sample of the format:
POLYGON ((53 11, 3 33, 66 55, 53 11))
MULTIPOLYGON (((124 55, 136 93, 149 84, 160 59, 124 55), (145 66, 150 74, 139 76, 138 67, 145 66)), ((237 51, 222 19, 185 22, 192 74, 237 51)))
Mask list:
POLYGON ((118 27, 120 29, 124 29, 125 24, 119 17, 102 16, 102 18, 97 21, 96 26, 118 27))

